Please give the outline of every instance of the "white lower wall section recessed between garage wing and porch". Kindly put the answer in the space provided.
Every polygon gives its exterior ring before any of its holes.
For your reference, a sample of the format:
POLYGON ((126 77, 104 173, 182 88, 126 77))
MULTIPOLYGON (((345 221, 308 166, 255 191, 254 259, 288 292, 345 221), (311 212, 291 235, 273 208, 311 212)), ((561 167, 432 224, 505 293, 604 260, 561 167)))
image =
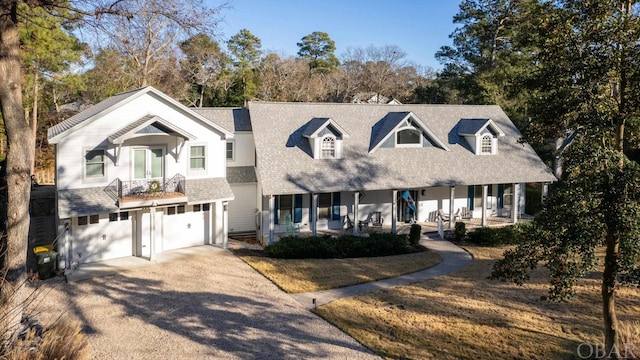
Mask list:
POLYGON ((229 201, 229 232, 256 230, 257 185, 232 184, 235 199, 229 201))

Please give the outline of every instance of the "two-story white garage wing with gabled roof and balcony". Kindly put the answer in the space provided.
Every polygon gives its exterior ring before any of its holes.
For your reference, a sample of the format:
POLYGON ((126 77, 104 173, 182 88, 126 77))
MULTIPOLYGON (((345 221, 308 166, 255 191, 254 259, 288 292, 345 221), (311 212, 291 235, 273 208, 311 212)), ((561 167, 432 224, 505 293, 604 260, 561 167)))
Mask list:
POLYGON ((160 91, 113 96, 51 127, 66 267, 226 246, 232 132, 160 91))

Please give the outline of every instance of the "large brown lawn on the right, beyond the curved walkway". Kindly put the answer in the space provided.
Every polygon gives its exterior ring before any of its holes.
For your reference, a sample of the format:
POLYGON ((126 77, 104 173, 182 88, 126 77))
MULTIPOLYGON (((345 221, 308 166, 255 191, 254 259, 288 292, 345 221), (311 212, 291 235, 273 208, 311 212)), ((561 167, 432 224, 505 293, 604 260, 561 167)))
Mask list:
MULTIPOLYGON (((524 286, 487 279, 505 249, 470 246, 473 263, 455 274, 337 300, 316 311, 391 358, 585 358, 586 347, 578 353, 581 343, 602 343, 598 274, 580 280, 570 302, 547 302, 544 270, 524 286)), ((619 320, 640 319, 639 295, 638 289, 619 290, 619 320)))

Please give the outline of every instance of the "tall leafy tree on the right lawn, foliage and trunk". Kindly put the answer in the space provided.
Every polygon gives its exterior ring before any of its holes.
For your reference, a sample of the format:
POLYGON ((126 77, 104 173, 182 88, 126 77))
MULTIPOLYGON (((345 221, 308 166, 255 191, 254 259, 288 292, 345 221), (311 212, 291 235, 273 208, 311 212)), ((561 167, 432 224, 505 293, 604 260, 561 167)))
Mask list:
MULTIPOLYGON (((551 271, 550 298, 573 295, 604 247, 602 312, 607 356, 617 358, 616 288, 640 273, 640 168, 625 134, 640 117, 640 15, 635 0, 540 1, 530 22, 537 42, 529 85, 536 95, 530 134, 573 129, 564 179, 536 216, 530 241, 505 253, 493 276, 522 283, 527 270, 551 271)), ((637 129, 636 129, 637 131, 637 129)))

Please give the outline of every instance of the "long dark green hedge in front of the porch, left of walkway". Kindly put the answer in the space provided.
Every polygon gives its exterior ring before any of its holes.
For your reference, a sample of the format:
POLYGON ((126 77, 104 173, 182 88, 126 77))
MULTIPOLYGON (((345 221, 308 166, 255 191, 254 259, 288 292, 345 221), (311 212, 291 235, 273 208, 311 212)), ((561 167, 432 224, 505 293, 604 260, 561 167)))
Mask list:
POLYGON ((268 257, 280 259, 339 259, 408 254, 416 251, 407 235, 375 233, 369 237, 286 236, 264 248, 268 257))

